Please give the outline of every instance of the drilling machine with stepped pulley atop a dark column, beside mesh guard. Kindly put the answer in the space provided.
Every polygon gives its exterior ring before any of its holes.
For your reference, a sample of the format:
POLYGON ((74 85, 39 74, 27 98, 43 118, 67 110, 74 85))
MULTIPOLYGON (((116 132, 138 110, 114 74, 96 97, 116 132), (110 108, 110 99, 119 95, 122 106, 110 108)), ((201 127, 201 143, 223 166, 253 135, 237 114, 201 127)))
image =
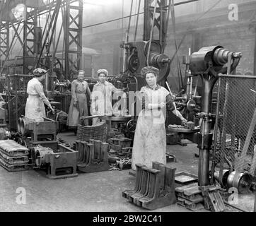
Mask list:
POLYGON ((202 108, 199 117, 202 124, 199 136, 199 167, 198 184, 206 186, 209 184, 209 153, 213 133, 211 133, 211 122, 213 114, 210 113, 212 90, 219 74, 232 73, 240 61, 240 52, 231 52, 222 46, 202 47, 198 52, 190 56, 190 71, 192 76, 202 78, 202 108))

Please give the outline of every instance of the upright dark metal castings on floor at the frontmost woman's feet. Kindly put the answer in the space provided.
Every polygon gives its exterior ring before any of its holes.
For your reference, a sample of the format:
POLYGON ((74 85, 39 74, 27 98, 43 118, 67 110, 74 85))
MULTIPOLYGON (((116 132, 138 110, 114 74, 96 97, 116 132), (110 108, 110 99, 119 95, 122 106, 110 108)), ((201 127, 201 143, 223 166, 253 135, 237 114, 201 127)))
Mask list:
POLYGON ((136 164, 134 190, 122 192, 131 203, 149 210, 155 210, 176 203, 174 179, 176 168, 153 162, 152 169, 136 164))

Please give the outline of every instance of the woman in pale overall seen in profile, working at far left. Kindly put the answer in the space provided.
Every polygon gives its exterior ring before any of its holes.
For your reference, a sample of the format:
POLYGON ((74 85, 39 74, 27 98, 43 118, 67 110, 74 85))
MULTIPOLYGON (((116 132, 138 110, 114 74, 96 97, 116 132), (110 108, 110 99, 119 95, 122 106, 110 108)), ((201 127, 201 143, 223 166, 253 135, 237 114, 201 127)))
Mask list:
POLYGON ((25 117, 35 121, 44 121, 45 105, 54 112, 49 100, 45 97, 41 83, 45 79, 46 73, 47 71, 44 69, 35 69, 33 71, 34 78, 28 82, 28 98, 25 104, 25 117))

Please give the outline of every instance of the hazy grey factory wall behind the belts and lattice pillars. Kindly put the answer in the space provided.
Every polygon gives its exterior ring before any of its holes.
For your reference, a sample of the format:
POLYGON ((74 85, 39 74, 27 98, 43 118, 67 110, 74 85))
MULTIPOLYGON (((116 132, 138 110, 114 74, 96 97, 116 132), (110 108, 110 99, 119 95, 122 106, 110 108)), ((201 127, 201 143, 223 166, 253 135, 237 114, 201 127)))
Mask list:
MULTIPOLYGON (((211 4, 208 4, 209 1, 207 1, 207 4, 206 1, 200 2, 200 5, 193 5, 192 12, 194 13, 182 15, 181 12, 176 13, 175 11, 178 44, 180 44, 180 41, 185 35, 178 51, 180 63, 182 64, 182 56, 188 54, 189 48, 192 48, 192 52, 194 52, 201 47, 222 45, 228 50, 243 53, 237 72, 252 73, 255 42, 255 29, 252 27, 252 19, 255 17, 256 1, 221 1, 209 12, 206 11, 217 1, 211 1, 211 4), (229 4, 237 4, 238 20, 231 20, 232 18, 230 18, 230 16, 233 15, 233 8, 228 8, 228 6, 230 6, 229 4), (198 13, 196 13, 196 11, 198 13)), ((141 16, 141 18, 143 18, 143 16, 141 16)), ((122 34, 120 34, 120 28, 116 28, 118 27, 117 22, 115 22, 115 25, 111 25, 110 23, 108 27, 109 29, 105 29, 104 31, 93 28, 93 33, 88 32, 86 28, 86 30, 83 31, 83 46, 96 49, 101 53, 99 57, 95 57, 93 63, 95 70, 105 68, 110 71, 110 75, 117 75, 122 71, 122 65, 120 64, 120 61, 122 61, 122 49, 120 48, 122 34)), ((131 27, 130 31, 129 40, 132 41, 134 40, 134 26, 131 27)), ((141 23, 139 24, 136 40, 142 39, 142 33, 143 25, 141 23)), ((168 54, 168 56, 172 58, 174 53, 175 42, 173 25, 170 20, 168 24, 165 54, 168 54)), ((181 67, 182 73, 184 73, 185 66, 181 65, 181 67)), ((178 74, 177 71, 176 60, 173 60, 170 78, 176 78, 178 74)), ((177 79, 173 82, 178 84, 177 79)))

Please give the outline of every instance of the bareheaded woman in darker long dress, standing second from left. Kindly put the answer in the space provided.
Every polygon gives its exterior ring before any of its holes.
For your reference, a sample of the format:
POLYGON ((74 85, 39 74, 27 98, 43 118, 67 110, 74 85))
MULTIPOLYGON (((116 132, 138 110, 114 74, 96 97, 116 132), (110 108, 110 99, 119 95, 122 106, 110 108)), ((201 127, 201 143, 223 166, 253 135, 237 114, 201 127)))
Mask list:
POLYGON ((67 125, 74 129, 76 134, 79 118, 88 116, 87 96, 91 97, 88 83, 84 81, 84 71, 78 71, 77 79, 71 83, 71 103, 67 125))

